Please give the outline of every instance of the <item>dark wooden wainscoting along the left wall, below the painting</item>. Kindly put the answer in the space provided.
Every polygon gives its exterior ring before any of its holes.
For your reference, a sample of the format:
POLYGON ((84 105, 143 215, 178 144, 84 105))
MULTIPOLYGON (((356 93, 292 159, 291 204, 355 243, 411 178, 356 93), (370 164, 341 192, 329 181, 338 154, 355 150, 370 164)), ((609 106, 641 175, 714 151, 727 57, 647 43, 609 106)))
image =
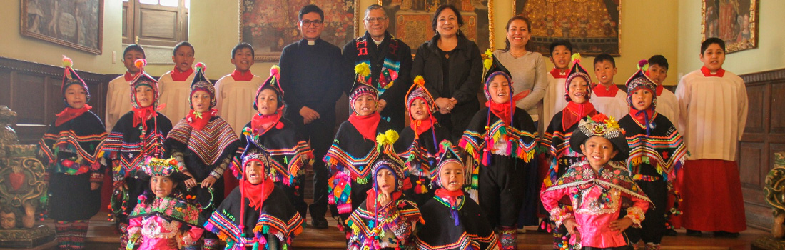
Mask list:
MULTIPOLYGON (((34 144, 46 132, 55 114, 65 107, 60 85, 63 67, 0 57, 0 105, 16 112, 16 135, 22 144, 34 144)), ((77 74, 90 90, 89 105, 104 119, 106 88, 114 75, 82 72, 77 74)))

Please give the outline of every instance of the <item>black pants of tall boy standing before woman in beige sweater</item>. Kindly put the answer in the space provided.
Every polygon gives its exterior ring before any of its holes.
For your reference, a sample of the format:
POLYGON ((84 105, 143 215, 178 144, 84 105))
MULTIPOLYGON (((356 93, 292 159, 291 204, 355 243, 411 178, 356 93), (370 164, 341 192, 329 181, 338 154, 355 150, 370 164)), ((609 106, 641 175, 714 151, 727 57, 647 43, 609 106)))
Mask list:
POLYGON ((516 226, 524 199, 526 164, 511 156, 491 157, 491 164, 480 165, 477 180, 480 208, 492 227, 516 226))

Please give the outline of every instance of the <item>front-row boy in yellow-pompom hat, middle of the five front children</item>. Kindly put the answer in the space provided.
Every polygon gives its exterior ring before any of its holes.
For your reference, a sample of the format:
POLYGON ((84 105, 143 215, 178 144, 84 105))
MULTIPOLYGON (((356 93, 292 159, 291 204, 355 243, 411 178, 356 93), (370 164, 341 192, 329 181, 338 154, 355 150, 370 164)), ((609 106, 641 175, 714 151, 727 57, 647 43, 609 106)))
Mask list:
POLYGON ((417 204, 401 192, 407 180, 403 175, 403 161, 394 151, 385 150, 371 167, 373 188, 365 192, 363 202, 346 220, 351 229, 347 249, 392 250, 411 244, 411 233, 422 216, 417 204))

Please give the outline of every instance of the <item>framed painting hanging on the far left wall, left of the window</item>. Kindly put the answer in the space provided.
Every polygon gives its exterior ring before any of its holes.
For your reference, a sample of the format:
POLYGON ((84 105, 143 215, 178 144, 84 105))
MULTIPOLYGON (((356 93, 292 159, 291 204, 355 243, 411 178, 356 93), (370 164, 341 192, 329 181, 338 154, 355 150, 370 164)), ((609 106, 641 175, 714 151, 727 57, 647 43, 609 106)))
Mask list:
POLYGON ((101 54, 104 0, 20 0, 21 35, 101 54))

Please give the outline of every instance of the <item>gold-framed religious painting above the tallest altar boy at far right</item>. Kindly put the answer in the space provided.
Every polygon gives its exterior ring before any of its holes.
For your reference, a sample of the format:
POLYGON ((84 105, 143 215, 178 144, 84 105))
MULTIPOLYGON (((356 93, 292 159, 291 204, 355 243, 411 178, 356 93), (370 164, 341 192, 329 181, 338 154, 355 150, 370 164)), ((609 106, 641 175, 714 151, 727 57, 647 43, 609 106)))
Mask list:
POLYGON ((703 0, 703 40, 716 37, 733 53, 758 47, 758 0, 703 0))

